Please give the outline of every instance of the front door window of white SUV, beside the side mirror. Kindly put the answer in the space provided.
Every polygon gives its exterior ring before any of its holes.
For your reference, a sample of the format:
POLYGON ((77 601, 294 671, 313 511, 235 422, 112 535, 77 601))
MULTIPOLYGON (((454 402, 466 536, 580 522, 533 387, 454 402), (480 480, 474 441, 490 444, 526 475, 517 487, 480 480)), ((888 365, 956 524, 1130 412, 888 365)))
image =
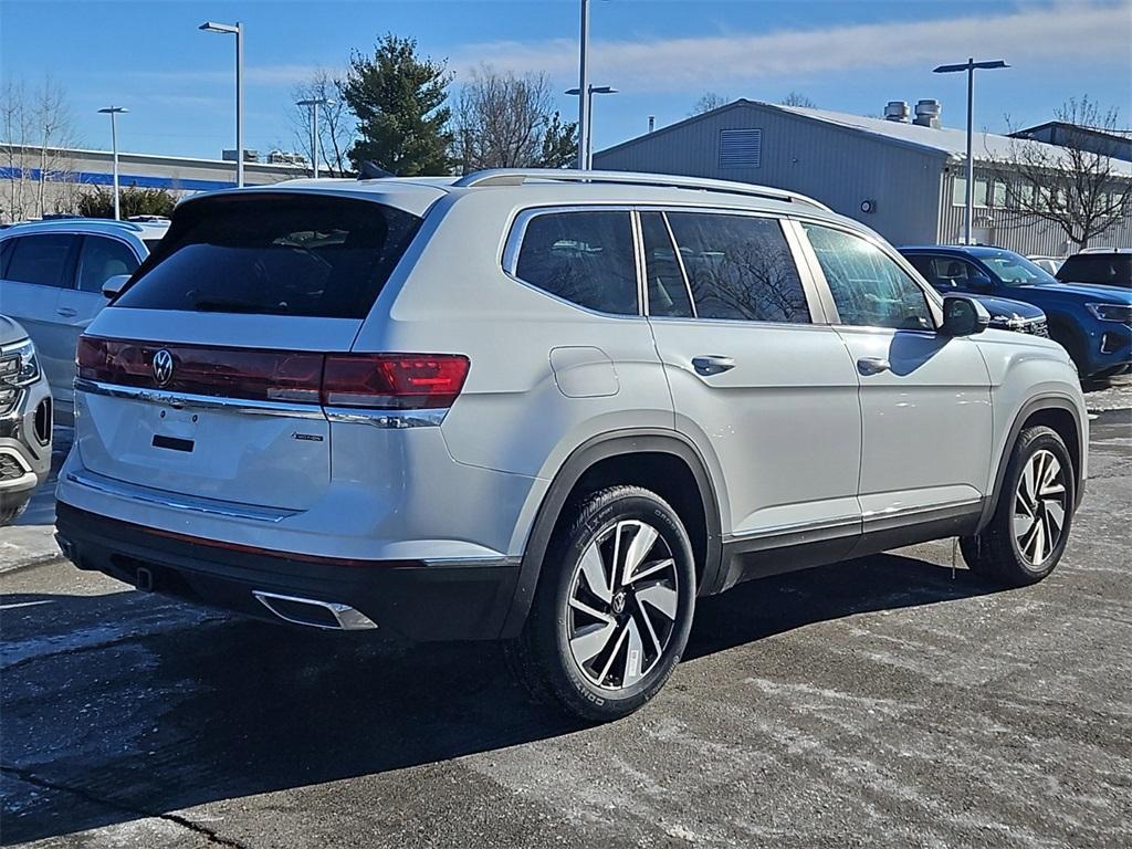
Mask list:
POLYGON ((884 251, 840 230, 803 226, 842 324, 912 331, 934 327, 924 291, 884 251))

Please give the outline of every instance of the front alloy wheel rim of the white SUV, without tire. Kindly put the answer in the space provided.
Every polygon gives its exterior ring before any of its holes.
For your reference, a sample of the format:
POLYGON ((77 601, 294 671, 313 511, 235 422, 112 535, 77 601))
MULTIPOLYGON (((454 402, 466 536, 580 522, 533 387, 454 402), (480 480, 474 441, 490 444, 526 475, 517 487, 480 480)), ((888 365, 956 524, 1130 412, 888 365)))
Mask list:
POLYGON ((1027 566, 1039 568, 1061 542, 1065 498, 1064 468, 1052 452, 1035 452, 1014 492, 1014 539, 1027 566))

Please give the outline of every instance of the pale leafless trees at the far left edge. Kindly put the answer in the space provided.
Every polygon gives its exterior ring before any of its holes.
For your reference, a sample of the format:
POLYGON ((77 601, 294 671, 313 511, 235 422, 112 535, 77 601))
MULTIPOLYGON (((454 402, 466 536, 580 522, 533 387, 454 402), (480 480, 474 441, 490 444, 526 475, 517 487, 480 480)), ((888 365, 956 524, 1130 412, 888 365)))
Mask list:
POLYGON ((50 77, 34 89, 24 80, 7 80, 0 132, 7 142, 0 213, 19 221, 70 212, 78 186, 69 152, 76 145, 75 118, 66 92, 50 77))

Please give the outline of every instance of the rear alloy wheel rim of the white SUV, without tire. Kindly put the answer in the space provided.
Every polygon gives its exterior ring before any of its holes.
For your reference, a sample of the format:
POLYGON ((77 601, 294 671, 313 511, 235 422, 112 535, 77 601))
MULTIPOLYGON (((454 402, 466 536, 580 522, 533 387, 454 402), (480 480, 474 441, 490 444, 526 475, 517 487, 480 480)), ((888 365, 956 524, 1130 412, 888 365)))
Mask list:
POLYGON ((586 547, 574 568, 566 636, 591 684, 624 689, 655 668, 676 629, 679 578, 664 538, 624 520, 586 547))

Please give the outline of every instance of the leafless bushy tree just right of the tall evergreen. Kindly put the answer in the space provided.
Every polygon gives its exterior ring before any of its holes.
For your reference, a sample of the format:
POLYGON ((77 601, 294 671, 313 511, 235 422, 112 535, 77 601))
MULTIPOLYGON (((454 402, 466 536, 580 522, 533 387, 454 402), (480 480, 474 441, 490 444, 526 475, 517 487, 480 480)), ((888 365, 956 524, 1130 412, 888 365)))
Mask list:
POLYGON ((554 109, 544 74, 520 77, 481 66, 461 87, 453 120, 454 158, 464 173, 484 168, 561 168, 576 155, 577 128, 563 123, 554 109))

